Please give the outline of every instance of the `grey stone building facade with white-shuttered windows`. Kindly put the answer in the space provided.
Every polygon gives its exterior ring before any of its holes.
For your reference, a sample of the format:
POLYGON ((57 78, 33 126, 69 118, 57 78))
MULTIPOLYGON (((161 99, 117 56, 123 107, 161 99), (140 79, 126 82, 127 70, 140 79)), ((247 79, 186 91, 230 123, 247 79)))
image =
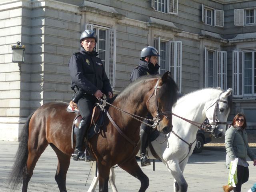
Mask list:
POLYGON ((18 140, 26 118, 50 101, 71 98, 68 62, 80 34, 93 29, 114 92, 129 84, 140 51, 155 46, 160 73, 179 92, 233 88, 233 110, 256 128, 256 1, 2 0, 0 2, 0 140, 18 140), (11 45, 26 46, 12 62, 11 45), (20 66, 20 67, 19 67, 20 66))

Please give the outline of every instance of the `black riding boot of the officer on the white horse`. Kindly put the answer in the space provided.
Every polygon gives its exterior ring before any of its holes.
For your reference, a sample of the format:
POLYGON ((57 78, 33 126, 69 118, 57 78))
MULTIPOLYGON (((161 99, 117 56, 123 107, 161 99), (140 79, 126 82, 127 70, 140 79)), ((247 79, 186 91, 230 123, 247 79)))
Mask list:
POLYGON ((140 130, 140 163, 141 166, 150 165, 150 159, 146 155, 146 149, 148 146, 148 133, 143 129, 140 130))

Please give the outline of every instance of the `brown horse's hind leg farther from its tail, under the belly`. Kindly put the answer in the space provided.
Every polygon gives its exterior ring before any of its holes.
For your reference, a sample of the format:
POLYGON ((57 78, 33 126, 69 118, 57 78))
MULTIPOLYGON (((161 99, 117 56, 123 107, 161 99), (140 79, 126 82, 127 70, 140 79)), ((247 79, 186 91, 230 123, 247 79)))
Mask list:
POLYGON ((70 165, 70 156, 61 152, 56 146, 50 144, 58 157, 58 166, 55 174, 55 180, 60 192, 66 192, 66 176, 70 165))

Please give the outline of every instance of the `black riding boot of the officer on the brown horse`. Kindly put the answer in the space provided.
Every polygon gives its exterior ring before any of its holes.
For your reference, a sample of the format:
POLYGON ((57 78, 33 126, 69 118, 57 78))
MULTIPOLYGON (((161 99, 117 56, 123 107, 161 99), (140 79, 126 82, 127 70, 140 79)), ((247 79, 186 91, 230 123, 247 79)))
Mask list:
POLYGON ((84 120, 80 122, 79 128, 76 132, 76 147, 74 154, 72 154, 75 161, 85 161, 84 151, 82 151, 82 144, 84 142, 84 135, 87 130, 87 124, 84 120))

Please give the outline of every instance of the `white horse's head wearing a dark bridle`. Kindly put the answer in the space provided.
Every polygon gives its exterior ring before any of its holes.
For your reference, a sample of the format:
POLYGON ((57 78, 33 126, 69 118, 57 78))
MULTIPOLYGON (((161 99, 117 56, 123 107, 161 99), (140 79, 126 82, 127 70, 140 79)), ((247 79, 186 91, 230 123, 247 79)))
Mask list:
POLYGON ((205 114, 211 125, 212 134, 219 138, 225 134, 228 114, 232 104, 232 89, 221 92, 205 106, 205 114))

